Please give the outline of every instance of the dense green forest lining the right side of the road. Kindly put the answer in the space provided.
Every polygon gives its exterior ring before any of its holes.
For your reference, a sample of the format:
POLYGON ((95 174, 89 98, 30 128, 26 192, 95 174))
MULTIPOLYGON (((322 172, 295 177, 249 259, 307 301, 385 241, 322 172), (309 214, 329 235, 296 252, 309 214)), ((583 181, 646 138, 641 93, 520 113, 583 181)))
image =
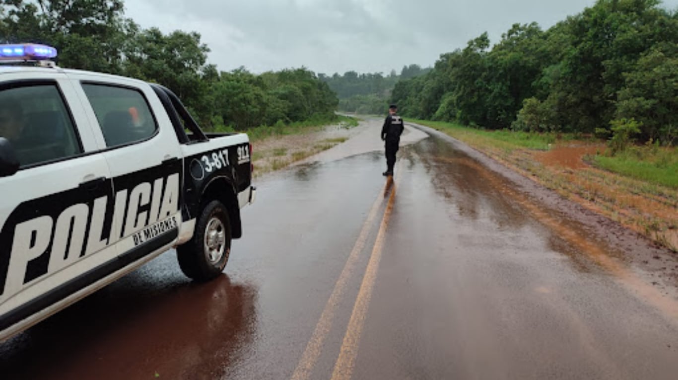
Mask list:
POLYGON ((678 137, 678 13, 657 0, 599 0, 543 31, 515 24, 399 81, 410 117, 488 129, 678 137))

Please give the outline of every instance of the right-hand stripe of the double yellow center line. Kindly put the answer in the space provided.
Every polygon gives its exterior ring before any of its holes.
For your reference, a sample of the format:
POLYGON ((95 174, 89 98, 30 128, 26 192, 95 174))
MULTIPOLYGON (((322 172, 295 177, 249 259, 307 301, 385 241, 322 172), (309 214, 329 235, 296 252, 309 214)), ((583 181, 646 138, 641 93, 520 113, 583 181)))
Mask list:
MULTIPOLYGON (((401 162, 402 160, 398 162, 398 169, 402 166, 401 162)), ((400 174, 401 170, 397 170, 396 172, 400 174)), ((398 178, 400 178, 400 175, 398 178)), ((355 358, 358 355, 358 346, 360 344, 363 327, 365 326, 367 308, 370 306, 372 290, 374 289, 374 283, 377 278, 382 248, 384 246, 384 237, 386 235, 386 227, 388 226, 388 219, 391 218, 396 190, 397 188, 394 184, 393 189, 391 190, 391 197, 388 198, 388 205, 386 206, 386 212, 384 212, 384 218, 382 218, 382 223, 379 227, 376 241, 374 242, 370 262, 367 263, 367 269, 365 269, 363 283, 360 285, 358 297, 355 300, 355 305, 353 305, 353 313, 351 313, 351 320, 348 321, 348 327, 346 328, 346 335, 344 335, 339 358, 334 364, 332 380, 349 380, 353 375, 355 358)))

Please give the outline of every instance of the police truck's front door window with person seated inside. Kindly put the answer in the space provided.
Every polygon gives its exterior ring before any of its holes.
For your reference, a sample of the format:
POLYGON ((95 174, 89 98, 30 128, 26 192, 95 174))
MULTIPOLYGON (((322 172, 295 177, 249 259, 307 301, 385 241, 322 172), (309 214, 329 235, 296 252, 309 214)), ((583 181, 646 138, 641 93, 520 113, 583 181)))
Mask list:
POLYGON ((12 142, 22 168, 83 151, 56 84, 0 90, 0 136, 12 142))

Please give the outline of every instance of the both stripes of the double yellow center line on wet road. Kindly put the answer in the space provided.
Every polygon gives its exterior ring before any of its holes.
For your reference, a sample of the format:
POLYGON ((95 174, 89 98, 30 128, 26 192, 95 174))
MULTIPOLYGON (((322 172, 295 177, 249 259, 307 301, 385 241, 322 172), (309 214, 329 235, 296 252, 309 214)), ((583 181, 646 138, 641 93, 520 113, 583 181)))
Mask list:
MULTIPOLYGON (((399 162, 398 168, 400 167, 401 164, 399 162)), ((400 172, 400 170, 397 170, 397 172, 400 172)), ((344 335, 344 341, 341 346, 339 358, 334 365, 332 380, 351 379, 351 375, 353 374, 353 367, 355 366, 355 358, 358 354, 360 337, 365 325, 365 317, 367 316, 367 308, 370 305, 372 290, 374 289, 374 283, 376 282, 377 271, 379 269, 379 262, 382 256, 386 227, 388 225, 388 219, 391 218, 393 203, 395 202, 396 187, 395 183, 393 183, 393 177, 388 177, 386 181, 384 194, 386 194, 389 189, 391 189, 391 193, 388 197, 386 210, 384 211, 384 216, 382 217, 382 221, 379 226, 374 247, 372 248, 370 261, 367 263, 367 269, 365 269, 363 282, 355 300, 355 305, 353 305, 353 312, 351 313, 351 319, 348 321, 348 327, 346 328, 346 334, 344 335)), ((327 338, 327 335, 332 329, 334 315, 336 314, 338 304, 346 290, 348 279, 351 278, 352 271, 360 257, 360 253, 365 248, 365 244, 367 244, 367 238, 370 235, 371 227, 377 217, 382 200, 382 195, 378 195, 374 201, 374 204, 372 205, 372 208, 370 209, 370 213, 367 214, 367 219, 365 219, 365 223, 363 224, 360 234, 358 235, 358 239, 353 246, 353 250, 351 250, 351 254, 348 255, 348 260, 344 265, 344 269, 342 269, 339 279, 334 285, 332 295, 330 295, 330 299, 327 299, 327 303, 325 303, 325 309, 323 309, 323 314, 321 314, 320 319, 315 326, 315 330, 313 330, 311 340, 308 341, 306 349, 304 349, 304 354, 302 354, 299 364, 292 374, 292 380, 306 380, 311 375, 313 366, 315 366, 315 363, 321 354, 325 338, 327 338)))

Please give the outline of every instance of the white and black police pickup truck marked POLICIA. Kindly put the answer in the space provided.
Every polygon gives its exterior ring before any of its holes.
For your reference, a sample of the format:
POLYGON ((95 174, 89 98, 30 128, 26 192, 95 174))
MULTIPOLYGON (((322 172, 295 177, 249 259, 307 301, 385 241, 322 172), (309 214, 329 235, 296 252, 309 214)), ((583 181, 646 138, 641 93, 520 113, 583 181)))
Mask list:
POLYGON ((0 341, 170 248, 189 278, 219 276, 254 202, 246 134, 55 56, 0 45, 0 341))

